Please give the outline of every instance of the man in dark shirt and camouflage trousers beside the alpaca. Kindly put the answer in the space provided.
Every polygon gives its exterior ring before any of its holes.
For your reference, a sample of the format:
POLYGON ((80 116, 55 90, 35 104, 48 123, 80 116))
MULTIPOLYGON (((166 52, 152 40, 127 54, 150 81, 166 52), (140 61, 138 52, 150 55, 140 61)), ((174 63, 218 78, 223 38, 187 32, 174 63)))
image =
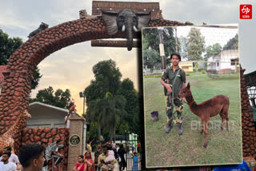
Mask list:
POLYGON ((167 124, 166 124, 166 133, 170 132, 172 128, 172 122, 174 120, 173 112, 174 106, 177 111, 177 120, 178 124, 178 134, 182 135, 182 111, 183 111, 183 102, 185 97, 179 98, 178 93, 182 87, 186 87, 186 74, 185 71, 179 68, 178 63, 181 61, 179 54, 174 53, 170 55, 170 62, 173 64, 166 72, 162 75, 161 84, 167 89, 167 99, 166 99, 166 115, 167 115, 167 124), (174 82, 174 78, 177 75, 177 78, 174 82), (167 83, 165 82, 167 80, 167 83), (174 91, 174 92, 173 92, 174 91), (172 95, 174 97, 172 97, 172 95))

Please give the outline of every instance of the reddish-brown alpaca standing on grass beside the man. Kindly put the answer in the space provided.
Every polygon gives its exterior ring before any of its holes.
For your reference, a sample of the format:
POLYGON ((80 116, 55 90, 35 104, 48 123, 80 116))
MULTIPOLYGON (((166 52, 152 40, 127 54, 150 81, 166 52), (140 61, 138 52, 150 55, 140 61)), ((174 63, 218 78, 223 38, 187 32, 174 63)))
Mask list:
POLYGON ((217 95, 210 98, 207 101, 203 101, 199 105, 194 101, 194 97, 192 96, 190 90, 190 83, 186 85, 183 89, 179 92, 179 97, 186 97, 187 104, 190 107, 192 113, 200 117, 202 128, 201 133, 205 133, 205 143, 203 145, 204 148, 207 147, 207 134, 209 128, 209 121, 210 117, 216 116, 218 113, 222 117, 222 127, 224 127, 224 121, 226 120, 226 130, 229 130, 229 116, 228 110, 230 106, 230 99, 224 95, 217 95))

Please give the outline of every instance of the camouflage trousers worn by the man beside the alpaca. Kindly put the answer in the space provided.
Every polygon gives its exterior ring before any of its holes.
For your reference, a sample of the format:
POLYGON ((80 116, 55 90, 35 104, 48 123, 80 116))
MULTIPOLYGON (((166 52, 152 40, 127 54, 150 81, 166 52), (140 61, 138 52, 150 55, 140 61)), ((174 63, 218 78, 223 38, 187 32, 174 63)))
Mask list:
POLYGON ((182 124, 182 98, 175 97, 174 98, 174 105, 177 111, 177 118, 174 120, 174 106, 172 105, 173 98, 171 95, 167 94, 166 98, 166 115, 167 115, 167 122, 174 121, 176 123, 182 124))

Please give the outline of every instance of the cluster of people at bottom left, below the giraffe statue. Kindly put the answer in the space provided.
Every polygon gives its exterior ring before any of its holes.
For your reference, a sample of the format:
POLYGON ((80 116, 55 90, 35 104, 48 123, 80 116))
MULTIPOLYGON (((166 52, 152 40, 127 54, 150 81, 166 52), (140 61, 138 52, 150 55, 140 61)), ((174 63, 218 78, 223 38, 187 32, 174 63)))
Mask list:
POLYGON ((58 151, 63 148, 61 140, 54 141, 48 146, 46 142, 42 142, 41 145, 24 145, 17 156, 12 147, 6 146, 0 150, 0 171, 47 171, 48 161, 52 158, 56 158, 54 169, 57 169, 57 165, 64 157, 58 151))

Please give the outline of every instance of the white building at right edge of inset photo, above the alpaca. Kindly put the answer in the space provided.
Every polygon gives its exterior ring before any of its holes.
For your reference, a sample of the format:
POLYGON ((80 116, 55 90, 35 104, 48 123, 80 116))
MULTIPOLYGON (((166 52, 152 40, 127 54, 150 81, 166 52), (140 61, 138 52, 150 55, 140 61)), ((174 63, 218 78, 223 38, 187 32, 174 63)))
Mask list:
POLYGON ((207 70, 222 72, 235 71, 239 63, 238 50, 222 50, 207 60, 207 70))

